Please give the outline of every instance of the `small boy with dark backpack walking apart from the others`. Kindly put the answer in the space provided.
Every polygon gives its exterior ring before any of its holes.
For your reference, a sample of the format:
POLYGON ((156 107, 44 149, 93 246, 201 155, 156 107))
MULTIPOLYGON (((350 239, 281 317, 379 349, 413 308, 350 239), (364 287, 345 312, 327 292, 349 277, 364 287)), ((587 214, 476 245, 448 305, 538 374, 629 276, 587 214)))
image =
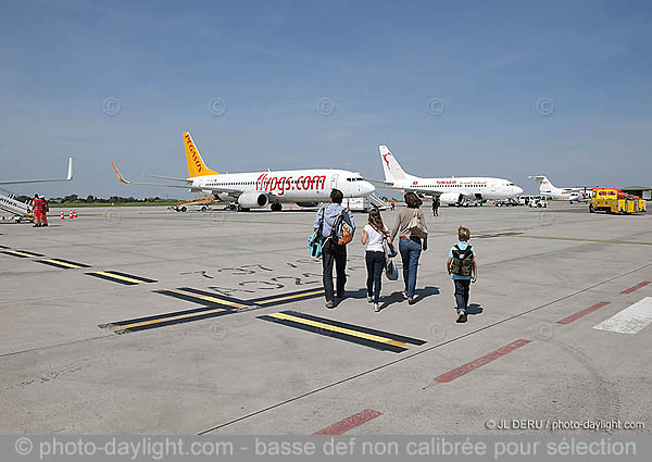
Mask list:
POLYGON ((471 230, 464 226, 457 228, 457 238, 460 241, 451 247, 446 267, 449 274, 453 275, 455 285, 455 304, 457 309, 457 322, 466 322, 466 309, 468 308, 468 291, 471 283, 478 278, 478 266, 475 249, 468 239, 471 230))

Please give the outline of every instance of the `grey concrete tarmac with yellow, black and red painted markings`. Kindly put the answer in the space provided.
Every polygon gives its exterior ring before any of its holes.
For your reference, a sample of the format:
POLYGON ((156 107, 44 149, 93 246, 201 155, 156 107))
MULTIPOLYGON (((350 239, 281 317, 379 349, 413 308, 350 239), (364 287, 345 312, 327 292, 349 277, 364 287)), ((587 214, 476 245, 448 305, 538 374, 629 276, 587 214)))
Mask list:
POLYGON ((293 209, 0 225, 0 433, 651 433, 650 214, 426 210, 418 302, 384 276, 374 313, 360 234, 327 310, 314 211, 293 209), (478 255, 464 324, 459 225, 478 255))

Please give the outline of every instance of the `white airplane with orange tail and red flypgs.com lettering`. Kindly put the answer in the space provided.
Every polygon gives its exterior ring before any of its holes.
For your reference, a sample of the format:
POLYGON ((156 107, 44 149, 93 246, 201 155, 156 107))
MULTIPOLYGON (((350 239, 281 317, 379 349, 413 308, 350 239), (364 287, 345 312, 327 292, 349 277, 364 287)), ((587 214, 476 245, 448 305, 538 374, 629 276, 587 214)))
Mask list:
POLYGON ((184 145, 188 163, 188 178, 146 175, 179 182, 179 185, 128 182, 120 174, 113 162, 111 164, 122 183, 183 188, 202 192, 206 197, 233 204, 239 211, 262 209, 268 204, 273 211, 280 211, 283 203, 315 207, 319 202, 329 200, 331 189, 341 190, 346 198, 365 197, 376 189, 359 173, 346 170, 313 168, 222 174, 205 165, 188 132, 184 133, 184 145))

